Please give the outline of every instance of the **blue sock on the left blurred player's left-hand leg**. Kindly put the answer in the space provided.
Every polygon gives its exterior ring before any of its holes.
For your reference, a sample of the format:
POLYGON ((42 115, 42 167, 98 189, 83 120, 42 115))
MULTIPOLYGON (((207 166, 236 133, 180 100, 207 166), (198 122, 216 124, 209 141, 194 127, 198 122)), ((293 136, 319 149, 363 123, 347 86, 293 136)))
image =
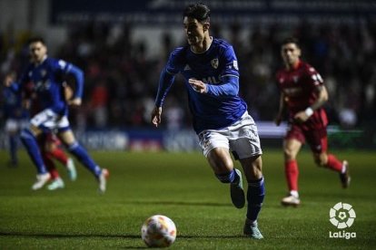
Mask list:
POLYGON ((41 151, 38 143, 36 142, 34 134, 30 130, 22 130, 21 141, 24 144, 30 158, 33 160, 38 174, 47 173, 47 170, 45 169, 45 162, 42 159, 41 151))

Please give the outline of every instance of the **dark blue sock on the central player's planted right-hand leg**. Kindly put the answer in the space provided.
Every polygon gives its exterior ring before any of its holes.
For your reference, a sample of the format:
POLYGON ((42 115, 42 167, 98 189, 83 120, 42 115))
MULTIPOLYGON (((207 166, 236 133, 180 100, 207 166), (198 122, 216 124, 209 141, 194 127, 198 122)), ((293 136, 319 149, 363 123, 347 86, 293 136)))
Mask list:
POLYGON ((247 191, 247 218, 251 221, 257 220, 262 208, 263 197, 265 197, 265 186, 263 177, 248 183, 247 191))

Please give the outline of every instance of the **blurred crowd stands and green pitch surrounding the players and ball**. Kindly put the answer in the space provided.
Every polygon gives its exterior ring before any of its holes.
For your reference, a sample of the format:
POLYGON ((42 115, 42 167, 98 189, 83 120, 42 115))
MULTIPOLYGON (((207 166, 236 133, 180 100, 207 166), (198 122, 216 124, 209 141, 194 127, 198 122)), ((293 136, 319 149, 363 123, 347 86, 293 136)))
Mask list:
POLYGON ((154 214, 173 218, 178 236, 172 249, 375 248, 374 1, 204 2, 213 9, 212 34, 234 45, 241 94, 260 130, 265 240, 242 236, 246 208, 233 208, 228 186, 195 150, 182 79, 167 98, 162 128, 149 123, 159 71, 169 51, 184 43, 181 12, 190 2, 0 0, 0 81, 24 67, 27 38, 43 35, 51 56, 84 69, 84 105, 71 119, 95 161, 111 171, 104 196, 78 162, 77 181, 68 181, 59 166, 64 189, 31 191, 31 160, 20 150, 19 167, 6 167, 0 130, 0 249, 143 249, 140 228, 154 214), (284 128, 272 124, 278 100, 273 72, 282 65, 278 43, 285 34, 301 38, 304 59, 322 73, 331 94, 331 151, 351 163, 351 187, 344 190, 337 174, 316 168, 311 152, 302 150, 297 209, 280 205, 284 128), (354 207, 357 217, 346 232, 356 238, 330 237, 338 233, 329 221, 338 202, 354 207))

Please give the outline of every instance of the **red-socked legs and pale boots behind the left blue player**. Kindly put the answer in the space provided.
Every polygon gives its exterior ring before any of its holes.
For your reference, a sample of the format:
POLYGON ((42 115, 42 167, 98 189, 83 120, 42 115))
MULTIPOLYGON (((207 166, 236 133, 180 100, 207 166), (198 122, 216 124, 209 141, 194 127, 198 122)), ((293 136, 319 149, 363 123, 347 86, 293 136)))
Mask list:
POLYGON ((39 148, 41 149, 42 158, 45 162, 45 167, 51 175, 51 184, 47 186, 48 190, 55 190, 58 188, 64 188, 64 180, 60 177, 54 165, 54 159, 57 159, 64 165, 68 171, 68 177, 74 181, 77 178, 77 172, 74 167, 74 160, 68 158, 61 149, 61 141, 56 137, 54 133, 43 133, 38 139, 39 148))

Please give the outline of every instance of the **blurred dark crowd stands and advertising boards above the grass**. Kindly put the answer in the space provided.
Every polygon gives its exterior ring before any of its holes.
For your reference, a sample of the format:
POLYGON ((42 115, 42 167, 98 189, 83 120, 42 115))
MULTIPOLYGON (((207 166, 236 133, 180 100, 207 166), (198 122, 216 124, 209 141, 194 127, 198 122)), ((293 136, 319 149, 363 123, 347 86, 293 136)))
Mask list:
MULTIPOLYGON (((42 35, 50 56, 84 69, 84 105, 70 116, 87 148, 197 149, 181 78, 166 100, 162 130, 149 121, 163 63, 173 47, 185 43, 181 13, 188 3, 0 0, 0 79, 12 70, 21 72, 27 62, 25 41, 42 35)), ((293 34, 301 40, 303 59, 322 73, 330 92, 325 108, 331 147, 375 149, 374 2, 205 3, 213 11, 212 35, 233 43, 241 95, 259 125, 263 146, 281 146, 284 126, 272 123, 279 100, 274 72, 282 66, 279 43, 293 34)), ((0 149, 6 143, 0 133, 0 149)))

